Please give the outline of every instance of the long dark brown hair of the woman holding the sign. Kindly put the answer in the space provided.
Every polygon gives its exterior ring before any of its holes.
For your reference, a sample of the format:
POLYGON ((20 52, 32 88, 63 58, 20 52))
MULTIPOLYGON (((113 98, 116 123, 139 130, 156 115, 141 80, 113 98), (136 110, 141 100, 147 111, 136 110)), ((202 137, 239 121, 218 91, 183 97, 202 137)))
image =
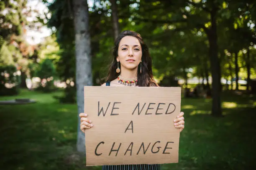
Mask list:
MULTIPOLYGON (((118 67, 118 62, 116 61, 116 58, 118 57, 118 47, 119 43, 125 36, 133 36, 136 37, 142 48, 142 57, 140 64, 138 65, 138 82, 137 85, 140 87, 150 87, 150 86, 159 86, 156 81, 154 80, 153 73, 152 73, 152 59, 149 55, 148 46, 144 43, 141 35, 137 32, 131 31, 131 30, 125 30, 120 33, 120 35, 115 40, 115 47, 113 48, 113 61, 110 64, 110 68, 108 71, 107 76, 107 82, 111 82, 112 80, 115 80, 120 73, 117 73, 115 70, 118 67), (140 67, 141 66, 141 67, 140 67), (141 69, 141 72, 140 72, 141 69)), ((119 62, 120 65, 120 62, 119 62)))

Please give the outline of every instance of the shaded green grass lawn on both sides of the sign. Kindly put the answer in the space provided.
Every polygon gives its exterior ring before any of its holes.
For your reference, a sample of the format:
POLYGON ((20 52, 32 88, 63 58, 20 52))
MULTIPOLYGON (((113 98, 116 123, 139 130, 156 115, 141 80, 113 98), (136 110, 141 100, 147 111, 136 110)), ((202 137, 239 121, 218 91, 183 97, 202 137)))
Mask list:
MULTIPOLYGON (((0 170, 100 170, 86 167, 75 151, 77 106, 60 104, 55 95, 22 90, 25 105, 0 105, 0 170)), ((256 96, 222 93, 224 117, 210 116, 210 99, 182 99, 185 129, 179 163, 162 170, 244 170, 256 167, 256 96)))

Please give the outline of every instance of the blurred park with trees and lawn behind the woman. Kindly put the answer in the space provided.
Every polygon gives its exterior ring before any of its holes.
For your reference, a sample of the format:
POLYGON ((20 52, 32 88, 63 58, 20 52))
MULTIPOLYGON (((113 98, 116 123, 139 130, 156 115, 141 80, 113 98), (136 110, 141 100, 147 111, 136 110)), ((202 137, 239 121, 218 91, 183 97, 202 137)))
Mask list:
POLYGON ((101 168, 85 166, 81 87, 104 82, 123 30, 182 87, 179 163, 161 169, 256 168, 255 21, 253 0, 1 1, 0 169, 101 168))

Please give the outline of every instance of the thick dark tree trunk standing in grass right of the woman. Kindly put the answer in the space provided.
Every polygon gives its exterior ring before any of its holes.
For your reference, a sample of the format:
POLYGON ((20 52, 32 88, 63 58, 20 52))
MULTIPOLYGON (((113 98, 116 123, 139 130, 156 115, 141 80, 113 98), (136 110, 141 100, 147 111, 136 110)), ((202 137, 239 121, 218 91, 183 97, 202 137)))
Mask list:
POLYGON ((209 57, 212 73, 212 115, 222 116, 220 105, 220 61, 218 57, 218 44, 217 44, 217 23, 216 23, 217 8, 211 11, 211 28, 206 30, 209 40, 209 57))

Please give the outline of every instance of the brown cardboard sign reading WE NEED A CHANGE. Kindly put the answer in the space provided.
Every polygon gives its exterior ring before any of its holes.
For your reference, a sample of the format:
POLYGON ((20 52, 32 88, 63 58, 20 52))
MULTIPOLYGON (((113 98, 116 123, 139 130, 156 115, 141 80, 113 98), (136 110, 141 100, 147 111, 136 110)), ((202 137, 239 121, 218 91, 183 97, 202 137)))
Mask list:
POLYGON ((86 164, 177 163, 180 87, 85 86, 86 164))

